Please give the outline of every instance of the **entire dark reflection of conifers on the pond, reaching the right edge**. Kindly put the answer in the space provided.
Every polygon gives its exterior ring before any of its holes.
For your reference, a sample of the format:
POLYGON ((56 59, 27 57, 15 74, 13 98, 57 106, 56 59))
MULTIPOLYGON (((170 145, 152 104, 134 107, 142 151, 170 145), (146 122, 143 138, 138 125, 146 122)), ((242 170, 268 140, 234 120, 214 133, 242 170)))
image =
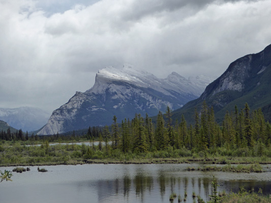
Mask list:
MULTIPOLYGON (((172 192, 184 197, 185 191, 188 194, 187 202, 193 202, 193 192, 200 195, 204 200, 209 200, 209 195, 212 194, 211 182, 212 178, 210 177, 175 177, 159 172, 157 177, 137 173, 134 177, 125 175, 123 179, 100 180, 95 186, 97 186, 99 202, 106 202, 108 196, 115 199, 123 196, 125 202, 167 202, 172 192)), ((254 188, 257 192, 261 187, 263 193, 270 193, 269 182, 220 181, 219 184, 219 191, 232 190, 238 192, 239 187, 245 186, 248 191, 254 188)))

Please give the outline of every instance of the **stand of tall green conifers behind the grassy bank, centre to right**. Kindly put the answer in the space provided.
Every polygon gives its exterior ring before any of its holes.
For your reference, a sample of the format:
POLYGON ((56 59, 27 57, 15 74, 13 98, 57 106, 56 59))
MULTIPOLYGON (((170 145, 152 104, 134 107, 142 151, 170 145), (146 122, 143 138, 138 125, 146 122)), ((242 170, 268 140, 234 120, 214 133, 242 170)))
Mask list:
POLYGON ((106 145, 107 140, 111 140, 111 147, 123 152, 148 152, 168 147, 205 152, 217 147, 244 149, 257 145, 260 155, 264 147, 270 147, 270 124, 265 122, 260 109, 251 112, 248 104, 244 109, 235 106, 233 112, 226 112, 220 126, 213 107, 207 107, 204 101, 200 112, 195 109, 194 120, 193 125, 188 125, 182 116, 180 121, 173 122, 169 108, 164 116, 159 112, 156 125, 147 115, 143 118, 138 114, 131 121, 123 120, 119 126, 114 116, 111 133, 106 126, 99 140, 106 145))

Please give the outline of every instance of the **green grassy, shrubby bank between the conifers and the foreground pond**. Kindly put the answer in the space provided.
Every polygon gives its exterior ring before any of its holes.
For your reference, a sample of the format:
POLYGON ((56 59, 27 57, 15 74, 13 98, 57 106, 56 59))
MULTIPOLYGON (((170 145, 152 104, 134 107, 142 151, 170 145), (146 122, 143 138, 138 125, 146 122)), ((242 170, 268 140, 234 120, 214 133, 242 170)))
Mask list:
MULTIPOLYGON (((52 145, 48 142, 41 146, 21 145, 21 142, 4 142, 0 150, 0 166, 58 165, 84 163, 205 163, 205 164, 271 164, 271 157, 225 156, 221 153, 196 153, 188 149, 154 150, 147 153, 122 152, 120 149, 99 146, 52 145)), ((248 166, 250 167, 250 166, 248 166)), ((224 169, 226 167, 223 167, 224 169)), ((223 171, 223 168, 205 167, 203 170, 223 171)), ((240 168, 228 168, 238 171, 240 168)), ((250 170, 250 169, 249 169, 250 170)), ((244 171, 244 168, 242 169, 244 171)), ((251 170, 250 170, 251 171, 251 170)), ((256 172, 256 171, 254 171, 256 172)))

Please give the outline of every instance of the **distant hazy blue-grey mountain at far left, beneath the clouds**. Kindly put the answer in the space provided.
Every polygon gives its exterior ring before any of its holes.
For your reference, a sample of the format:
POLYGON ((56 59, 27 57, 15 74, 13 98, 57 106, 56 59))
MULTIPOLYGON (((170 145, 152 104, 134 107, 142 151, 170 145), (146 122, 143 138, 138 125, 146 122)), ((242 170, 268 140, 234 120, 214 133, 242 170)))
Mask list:
POLYGON ((49 113, 38 108, 0 108, 0 120, 9 123, 16 129, 22 129, 24 132, 40 129, 49 117, 49 113))

